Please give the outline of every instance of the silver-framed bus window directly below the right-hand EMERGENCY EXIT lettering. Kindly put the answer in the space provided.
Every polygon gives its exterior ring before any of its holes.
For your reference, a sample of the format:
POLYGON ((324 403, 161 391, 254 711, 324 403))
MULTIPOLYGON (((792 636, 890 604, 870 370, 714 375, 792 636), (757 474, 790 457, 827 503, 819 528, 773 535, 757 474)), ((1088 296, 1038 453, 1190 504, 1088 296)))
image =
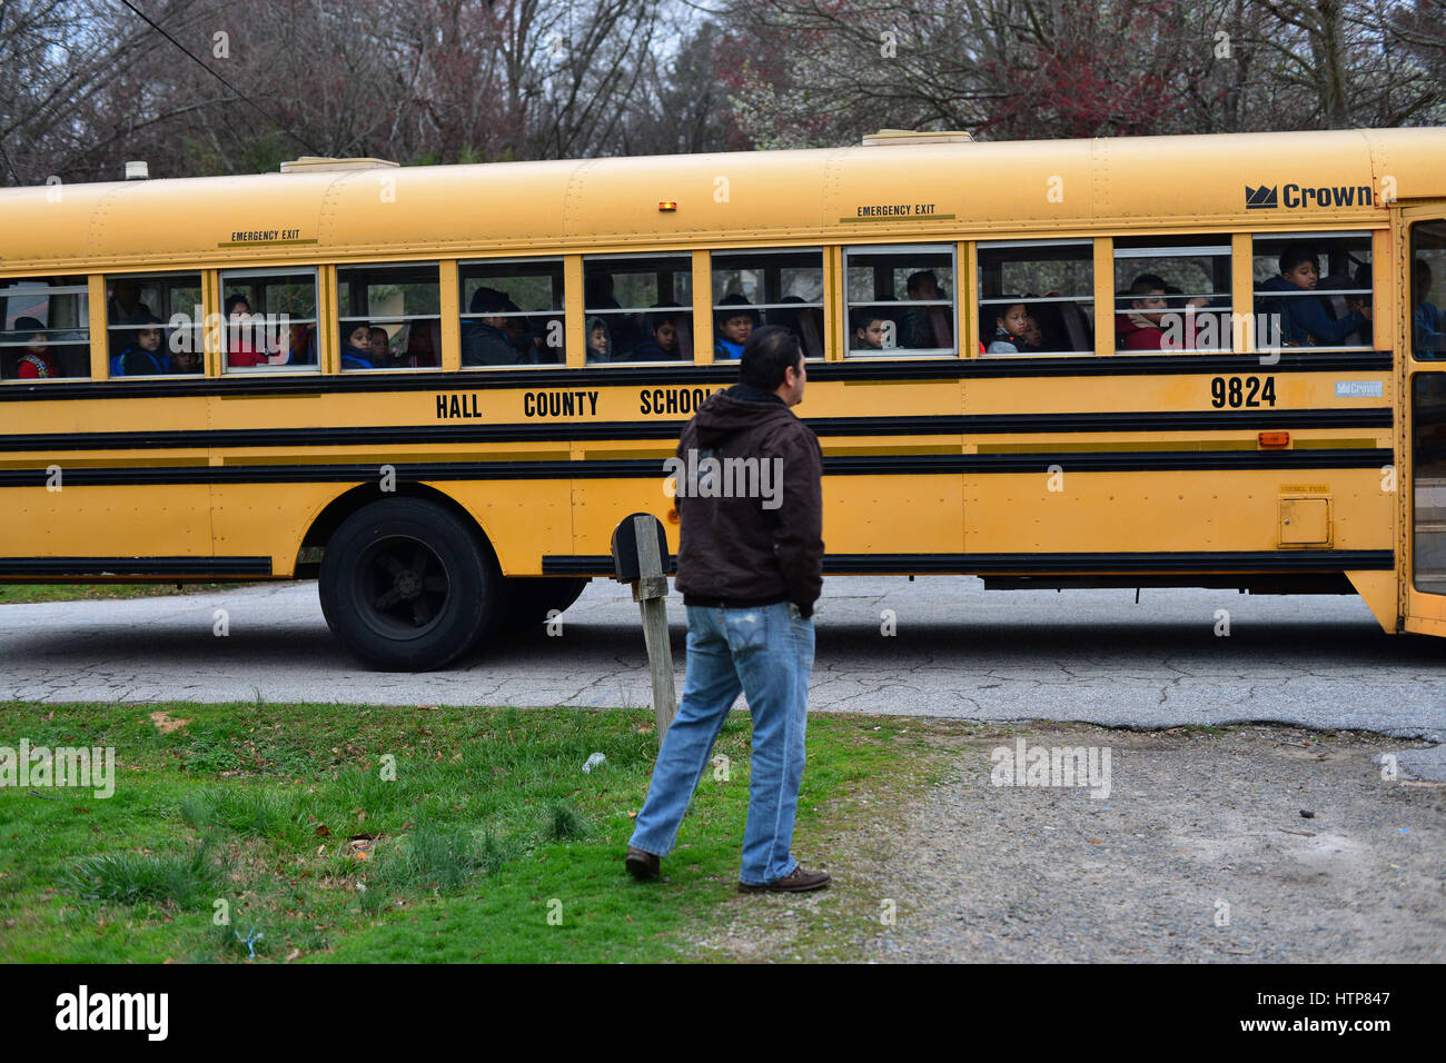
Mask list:
POLYGON ((846 357, 957 354, 950 244, 846 247, 846 357))

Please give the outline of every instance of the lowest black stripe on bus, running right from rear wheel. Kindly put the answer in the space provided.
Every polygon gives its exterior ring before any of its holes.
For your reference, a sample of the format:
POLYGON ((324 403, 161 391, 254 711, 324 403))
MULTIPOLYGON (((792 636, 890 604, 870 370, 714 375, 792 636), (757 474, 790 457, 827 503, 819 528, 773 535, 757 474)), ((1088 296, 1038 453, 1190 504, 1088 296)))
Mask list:
MULTIPOLYGON (((1395 567, 1390 550, 1312 551, 1164 551, 1112 554, 826 554, 824 573, 1009 573, 1057 576, 1066 573, 1301 573, 1381 571, 1395 567)), ((544 576, 610 576, 606 554, 545 554, 544 576)), ((677 574, 677 558, 668 574, 677 574)))

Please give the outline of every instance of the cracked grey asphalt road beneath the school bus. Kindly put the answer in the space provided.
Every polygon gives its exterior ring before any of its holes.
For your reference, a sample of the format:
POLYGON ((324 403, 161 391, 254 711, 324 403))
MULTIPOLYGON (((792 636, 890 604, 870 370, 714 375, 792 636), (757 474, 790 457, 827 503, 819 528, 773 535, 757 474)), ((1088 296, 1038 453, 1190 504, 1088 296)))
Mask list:
MULTIPOLYGON (((983 592, 972 577, 830 579, 814 710, 1111 726, 1275 720, 1446 733, 1446 642, 1387 636, 1356 597, 1212 590, 983 592), (1216 610, 1229 635, 1216 635, 1216 610), (881 615, 892 610, 895 633, 881 615)), ((678 690, 684 612, 668 599, 678 690)), ((510 638, 447 673, 359 665, 312 583, 0 606, 0 699, 651 704, 638 607, 594 580, 560 636, 510 638), (215 610, 228 633, 214 633, 215 610)))

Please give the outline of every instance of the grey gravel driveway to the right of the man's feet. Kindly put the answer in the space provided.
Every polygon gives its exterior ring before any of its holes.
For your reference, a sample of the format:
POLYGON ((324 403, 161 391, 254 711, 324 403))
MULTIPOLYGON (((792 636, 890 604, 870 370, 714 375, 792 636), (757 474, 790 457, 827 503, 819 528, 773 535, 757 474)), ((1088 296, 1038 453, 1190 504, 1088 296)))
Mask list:
POLYGON ((704 947, 782 960, 1446 960, 1446 782, 1411 777, 1420 743, 1280 726, 910 729, 947 758, 943 781, 907 798, 866 781, 795 845, 833 889, 749 898, 704 947), (1019 739, 1108 748, 1109 797, 995 785, 993 751, 1012 755, 1019 739), (1395 780, 1382 754, 1398 755, 1395 780))

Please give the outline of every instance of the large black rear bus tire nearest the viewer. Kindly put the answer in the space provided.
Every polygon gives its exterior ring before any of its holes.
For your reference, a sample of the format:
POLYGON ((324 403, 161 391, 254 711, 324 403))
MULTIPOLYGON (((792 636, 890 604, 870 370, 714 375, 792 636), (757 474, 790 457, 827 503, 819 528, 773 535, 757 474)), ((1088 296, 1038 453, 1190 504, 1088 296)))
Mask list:
POLYGON ((373 502, 321 555, 321 612, 346 646, 388 671, 432 671, 495 623, 502 576, 477 531, 425 499, 373 502))

